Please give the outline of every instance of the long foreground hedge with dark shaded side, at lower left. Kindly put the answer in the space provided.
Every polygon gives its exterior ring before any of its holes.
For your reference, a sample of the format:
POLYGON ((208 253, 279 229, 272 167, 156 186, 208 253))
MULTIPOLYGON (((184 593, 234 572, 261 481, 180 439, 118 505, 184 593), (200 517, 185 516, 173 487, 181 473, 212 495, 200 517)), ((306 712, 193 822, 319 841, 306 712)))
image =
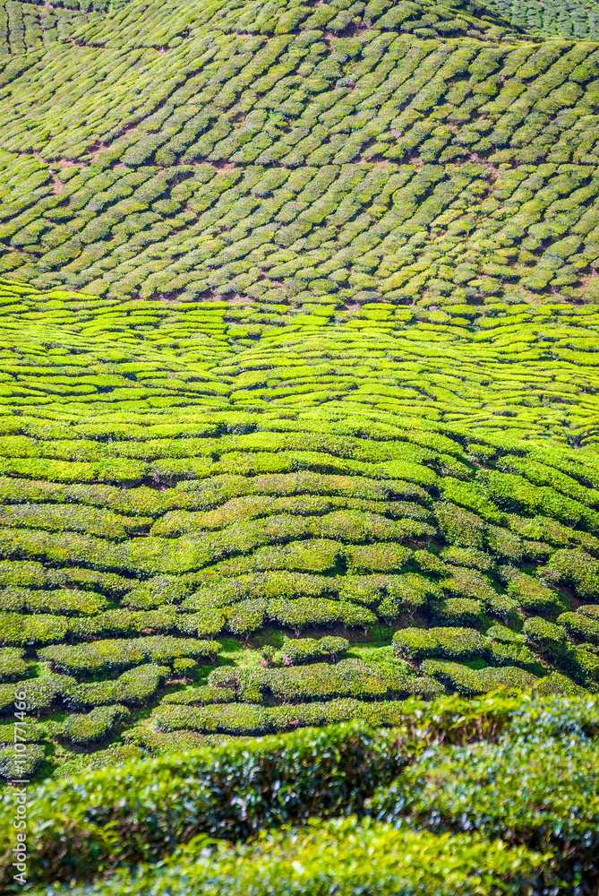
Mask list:
MULTIPOLYGON (((164 855, 201 831, 244 838, 313 814, 360 811, 373 788, 391 780, 402 761, 398 752, 397 735, 354 724, 265 739, 252 749, 224 745, 189 754, 184 777, 175 758, 48 785, 31 801, 31 879, 68 880, 91 867, 101 874, 120 861, 164 855), (132 836, 140 824, 143 837, 132 836)), ((6 797, 3 830, 12 823, 11 807, 6 797)), ((3 840, 5 885, 13 859, 9 838, 3 840)))

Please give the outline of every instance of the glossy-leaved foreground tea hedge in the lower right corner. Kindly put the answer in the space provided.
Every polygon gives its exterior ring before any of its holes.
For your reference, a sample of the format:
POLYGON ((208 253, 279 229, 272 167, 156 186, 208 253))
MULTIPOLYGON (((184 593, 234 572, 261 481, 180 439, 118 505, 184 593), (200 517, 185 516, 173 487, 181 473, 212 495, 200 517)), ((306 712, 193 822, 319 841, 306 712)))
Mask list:
POLYGON ((555 874, 563 881, 559 892, 592 893, 599 876, 598 759, 596 740, 548 737, 535 727, 497 744, 433 748, 377 793, 372 812, 552 853, 545 885, 557 883, 555 874))

